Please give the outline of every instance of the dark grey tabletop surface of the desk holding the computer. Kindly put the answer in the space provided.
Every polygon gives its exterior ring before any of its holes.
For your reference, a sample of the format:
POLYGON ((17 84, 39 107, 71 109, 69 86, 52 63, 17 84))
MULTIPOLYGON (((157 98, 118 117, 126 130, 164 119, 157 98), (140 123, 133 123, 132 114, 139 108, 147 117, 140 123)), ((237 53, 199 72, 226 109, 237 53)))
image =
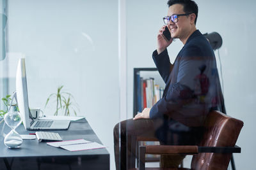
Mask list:
MULTIPOLYGON (((2 129, 3 124, 0 125, 0 129, 2 129)), ((29 134, 35 133, 35 131, 26 131, 24 126, 21 124, 17 127, 17 132, 19 134, 29 134)), ((4 132, 10 132, 10 127, 5 125, 4 132)), ((93 132, 92 128, 88 124, 88 122, 83 119, 77 122, 71 122, 68 130, 51 130, 51 132, 58 132, 63 139, 85 139, 87 141, 95 141, 100 143, 99 138, 96 136, 95 132, 93 132)), ((70 152, 68 150, 64 150, 62 148, 56 148, 53 146, 47 145, 45 142, 38 142, 37 139, 33 140, 23 140, 20 148, 9 149, 4 145, 3 136, 0 137, 0 159, 1 158, 24 158, 24 157, 99 157, 103 158, 106 162, 108 159, 108 168, 109 169, 109 153, 106 148, 100 148, 95 150, 83 150, 77 152, 70 152)))

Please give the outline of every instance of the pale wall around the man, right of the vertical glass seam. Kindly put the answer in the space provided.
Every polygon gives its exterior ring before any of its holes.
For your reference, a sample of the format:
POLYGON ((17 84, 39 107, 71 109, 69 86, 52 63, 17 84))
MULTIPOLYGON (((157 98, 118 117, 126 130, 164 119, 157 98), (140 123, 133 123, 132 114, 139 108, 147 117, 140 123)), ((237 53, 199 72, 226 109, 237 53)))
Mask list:
MULTIPOLYGON (((156 35, 167 15, 167 1, 127 1, 127 114, 132 117, 133 67, 154 67, 152 52, 156 35)), ((252 169, 256 137, 255 109, 256 1, 196 1, 199 7, 196 27, 202 33, 216 31, 223 38, 220 48, 225 106, 228 115, 243 120, 237 140, 241 153, 234 154, 237 169, 252 169)), ((168 47, 170 59, 182 48, 179 40, 168 47)), ((219 65, 218 52, 216 59, 219 65)), ((220 73, 220 70, 219 70, 220 73)))

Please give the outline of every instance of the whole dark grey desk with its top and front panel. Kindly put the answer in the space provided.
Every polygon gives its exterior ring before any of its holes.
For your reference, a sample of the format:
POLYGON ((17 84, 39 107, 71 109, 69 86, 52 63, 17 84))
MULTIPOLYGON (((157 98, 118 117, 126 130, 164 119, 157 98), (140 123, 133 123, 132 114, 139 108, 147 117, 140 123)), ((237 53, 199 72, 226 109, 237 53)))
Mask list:
MULTIPOLYGON (((0 125, 2 129, 3 124, 0 125)), ((35 133, 26 131, 23 125, 17 127, 19 134, 35 133)), ((52 131, 52 130, 51 130, 52 131)), ((5 125, 4 132, 10 132, 5 125)), ((100 143, 88 122, 83 119, 71 122, 68 130, 58 132, 63 140, 86 139, 100 143)), ((70 152, 47 145, 45 142, 23 140, 20 148, 9 149, 0 137, 0 169, 109 169, 109 153, 106 148, 70 152), (9 166, 9 167, 8 167, 9 166)))

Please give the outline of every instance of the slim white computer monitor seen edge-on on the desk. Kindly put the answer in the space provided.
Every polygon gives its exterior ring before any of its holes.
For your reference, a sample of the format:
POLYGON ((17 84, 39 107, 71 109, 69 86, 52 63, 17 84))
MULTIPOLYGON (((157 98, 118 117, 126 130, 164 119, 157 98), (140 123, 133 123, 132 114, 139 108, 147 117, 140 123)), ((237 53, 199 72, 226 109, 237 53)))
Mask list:
POLYGON ((33 121, 28 105, 28 88, 26 78, 25 59, 19 59, 16 73, 16 93, 20 117, 25 129, 29 129, 33 121))

